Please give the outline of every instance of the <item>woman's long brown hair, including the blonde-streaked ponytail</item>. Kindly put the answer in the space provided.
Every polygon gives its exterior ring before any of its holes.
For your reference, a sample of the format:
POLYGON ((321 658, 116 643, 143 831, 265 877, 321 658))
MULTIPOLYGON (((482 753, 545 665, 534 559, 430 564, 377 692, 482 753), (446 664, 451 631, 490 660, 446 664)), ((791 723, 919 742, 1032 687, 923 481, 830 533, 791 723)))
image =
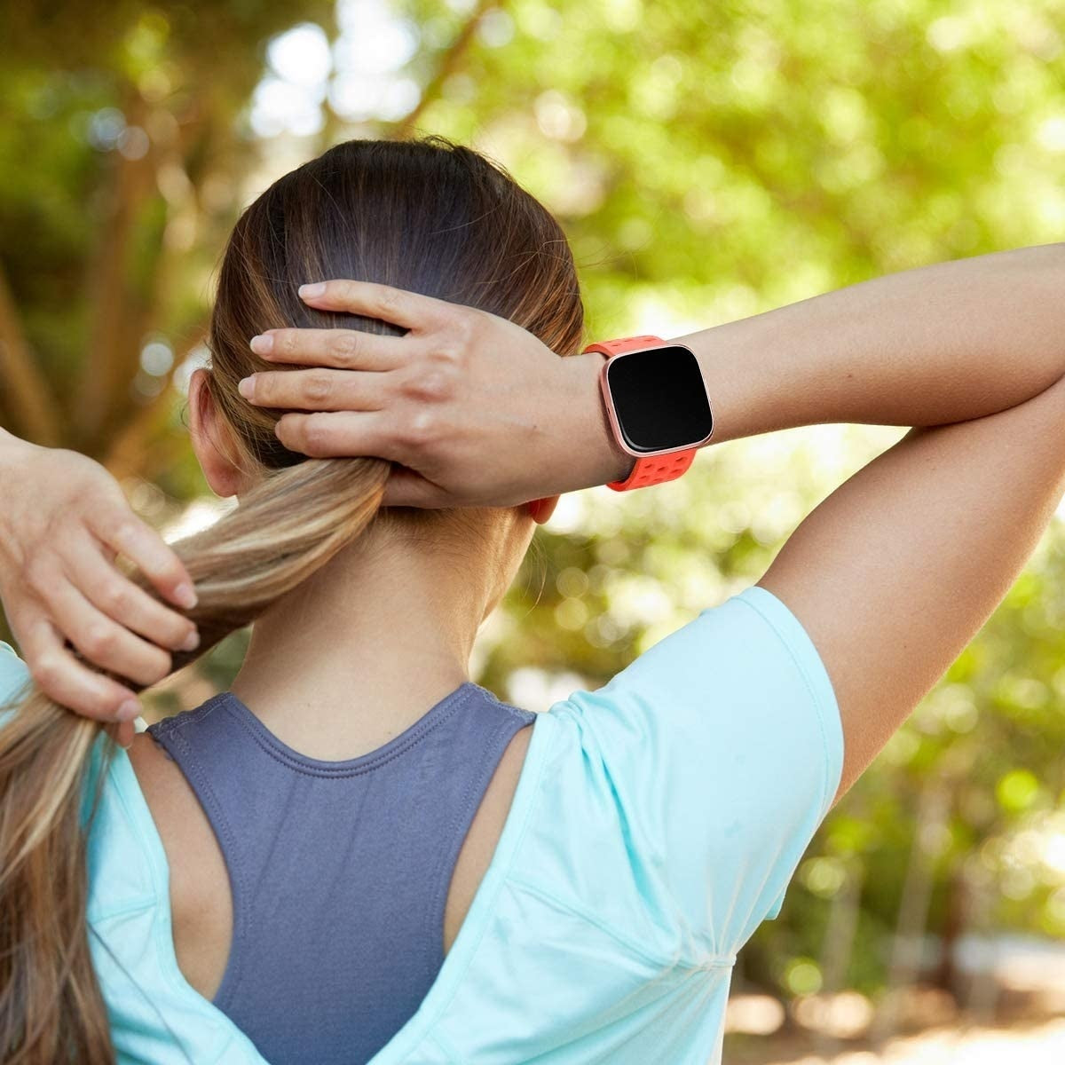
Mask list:
MULTIPOLYGON (((579 285, 562 230, 478 152, 438 136, 348 141, 276 181, 229 239, 209 339, 211 393, 241 461, 260 478, 235 510, 176 545, 196 584, 190 617, 201 642, 176 653, 174 669, 252 621, 378 512, 389 462, 289 452, 274 432, 281 412, 251 407, 236 391, 242 377, 277 368, 248 347, 264 329, 403 332, 299 299, 299 284, 333 277, 491 311, 560 356, 581 343, 579 285)), ((88 756, 102 730, 37 689, 0 728, 0 1059, 7 1063, 114 1062, 88 947, 82 824, 88 756)), ((114 744, 102 746, 105 765, 114 744)))

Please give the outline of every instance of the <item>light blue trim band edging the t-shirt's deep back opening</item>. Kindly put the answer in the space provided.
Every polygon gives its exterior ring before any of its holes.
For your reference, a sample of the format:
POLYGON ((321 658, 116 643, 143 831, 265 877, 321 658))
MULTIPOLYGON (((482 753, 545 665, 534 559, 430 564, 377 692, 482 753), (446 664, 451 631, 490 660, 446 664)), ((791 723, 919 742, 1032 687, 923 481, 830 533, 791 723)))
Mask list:
MULTIPOLYGON (((471 682, 472 683, 472 682, 471 682)), ((453 693, 454 694, 454 693, 453 693)), ((444 957, 417 1010, 395 1035, 366 1063, 366 1065, 397 1065, 425 1038, 432 1025, 447 1009, 459 990, 466 970, 473 963, 477 947, 491 922, 495 899, 510 871, 514 855, 525 836, 529 818, 540 794, 540 781, 544 766, 553 747, 559 722, 552 714, 538 714, 532 723, 532 735, 525 752, 518 777, 518 786, 504 821, 503 830, 495 845, 495 851, 485 875, 481 878, 470 908, 466 911, 452 949, 444 957)), ((124 800, 133 822, 136 838, 148 859, 149 875, 155 896, 157 920, 153 923, 157 961, 163 977, 194 1009, 212 1016, 245 1047, 257 1065, 267 1065, 266 1060, 256 1049, 255 1044, 234 1021, 210 999, 204 998, 185 979, 178 966, 174 947, 173 914, 170 911, 170 870, 163 847, 162 837, 151 816, 148 801, 141 788, 141 782, 133 771, 129 754, 115 744, 109 773, 124 800)))

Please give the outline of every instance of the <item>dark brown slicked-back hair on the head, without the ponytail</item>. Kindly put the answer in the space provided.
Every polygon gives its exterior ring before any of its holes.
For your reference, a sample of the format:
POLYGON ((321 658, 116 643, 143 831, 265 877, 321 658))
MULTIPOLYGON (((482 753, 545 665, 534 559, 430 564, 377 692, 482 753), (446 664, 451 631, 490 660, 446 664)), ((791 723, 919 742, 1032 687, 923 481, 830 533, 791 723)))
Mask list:
POLYGON ((233 229, 211 320, 211 394, 250 460, 304 461, 274 435, 280 411, 236 382, 274 370, 248 342, 282 326, 403 329, 308 307, 300 284, 378 281, 509 318, 560 356, 584 311, 573 257, 552 215, 497 166, 442 137, 348 141, 274 182, 233 229))

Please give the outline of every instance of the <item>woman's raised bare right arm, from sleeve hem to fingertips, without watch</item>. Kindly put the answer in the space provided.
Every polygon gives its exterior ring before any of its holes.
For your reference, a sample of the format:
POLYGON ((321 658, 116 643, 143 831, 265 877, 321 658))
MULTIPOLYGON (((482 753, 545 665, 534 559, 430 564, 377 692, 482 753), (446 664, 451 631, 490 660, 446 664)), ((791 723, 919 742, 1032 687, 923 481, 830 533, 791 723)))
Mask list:
MULTIPOLYGON (((290 447, 394 458, 408 469, 391 502, 414 506, 472 502, 458 486, 505 505, 627 473, 604 427, 597 357, 553 364, 510 323, 382 285, 318 289, 305 297, 316 307, 410 332, 386 345, 343 330, 253 342, 317 367, 258 374, 246 393, 296 411, 279 427, 290 447)), ((832 678, 840 792, 999 603, 1062 495, 1063 291, 1065 245, 1045 245, 676 338, 702 366, 712 443, 823 422, 919 427, 817 507, 759 581, 832 678)))

